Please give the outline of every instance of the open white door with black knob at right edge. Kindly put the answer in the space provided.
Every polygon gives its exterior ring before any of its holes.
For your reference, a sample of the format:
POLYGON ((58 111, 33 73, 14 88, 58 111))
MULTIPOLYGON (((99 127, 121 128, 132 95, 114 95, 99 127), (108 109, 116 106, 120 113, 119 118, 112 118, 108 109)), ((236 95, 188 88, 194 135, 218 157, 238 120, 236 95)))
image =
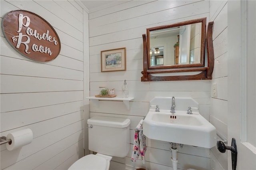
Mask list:
POLYGON ((256 170, 255 11, 254 0, 228 1, 228 146, 236 138, 237 170, 256 170))

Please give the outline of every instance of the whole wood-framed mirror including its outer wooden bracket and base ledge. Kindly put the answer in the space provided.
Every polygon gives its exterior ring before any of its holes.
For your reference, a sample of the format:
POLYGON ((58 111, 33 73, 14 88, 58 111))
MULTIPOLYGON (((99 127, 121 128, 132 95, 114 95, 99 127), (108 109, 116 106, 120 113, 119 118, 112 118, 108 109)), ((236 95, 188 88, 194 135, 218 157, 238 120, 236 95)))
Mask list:
POLYGON ((212 79, 212 27, 210 22, 206 35, 206 18, 199 18, 148 28, 142 35, 141 81, 212 79))

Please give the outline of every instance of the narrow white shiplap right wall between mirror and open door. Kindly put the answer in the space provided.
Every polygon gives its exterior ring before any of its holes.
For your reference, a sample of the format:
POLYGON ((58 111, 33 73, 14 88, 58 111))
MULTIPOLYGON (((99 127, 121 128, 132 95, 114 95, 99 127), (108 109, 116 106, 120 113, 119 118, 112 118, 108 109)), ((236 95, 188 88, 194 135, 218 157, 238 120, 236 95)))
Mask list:
MULTIPOLYGON (((223 138, 228 138, 228 2, 210 1, 210 21, 214 21, 214 71, 212 83, 217 83, 217 97, 211 95, 210 123, 223 138)), ((221 138, 218 138, 221 140, 221 138)), ((210 167, 214 170, 228 169, 228 153, 221 153, 217 147, 211 149, 210 167)))

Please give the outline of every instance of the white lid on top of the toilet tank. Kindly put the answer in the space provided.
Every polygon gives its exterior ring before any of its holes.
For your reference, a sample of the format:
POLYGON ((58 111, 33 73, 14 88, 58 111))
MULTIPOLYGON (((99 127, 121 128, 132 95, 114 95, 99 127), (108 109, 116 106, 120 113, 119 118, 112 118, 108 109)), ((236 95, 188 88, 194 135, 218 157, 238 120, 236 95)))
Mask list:
POLYGON ((103 127, 126 128, 130 125, 130 119, 96 116, 87 120, 88 125, 103 127))

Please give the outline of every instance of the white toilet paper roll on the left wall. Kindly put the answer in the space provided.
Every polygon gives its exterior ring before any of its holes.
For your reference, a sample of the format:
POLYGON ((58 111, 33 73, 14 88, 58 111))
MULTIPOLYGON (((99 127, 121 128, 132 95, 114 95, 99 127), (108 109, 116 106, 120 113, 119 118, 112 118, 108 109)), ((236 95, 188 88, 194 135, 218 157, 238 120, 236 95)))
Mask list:
POLYGON ((17 132, 9 133, 6 136, 6 140, 11 139, 11 144, 6 144, 8 150, 14 150, 24 145, 30 144, 33 140, 33 132, 30 128, 20 130, 17 132))

